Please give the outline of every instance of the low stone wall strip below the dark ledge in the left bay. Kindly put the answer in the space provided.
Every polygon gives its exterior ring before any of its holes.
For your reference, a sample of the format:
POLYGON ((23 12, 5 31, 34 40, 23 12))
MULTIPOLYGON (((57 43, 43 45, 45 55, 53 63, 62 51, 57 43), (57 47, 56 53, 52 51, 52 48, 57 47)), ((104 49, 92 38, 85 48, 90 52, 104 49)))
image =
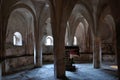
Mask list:
MULTIPOLYGON (((5 60, 6 73, 16 72, 26 69, 27 66, 34 65, 33 56, 18 57, 5 60)), ((28 67, 27 67, 28 68, 28 67)))

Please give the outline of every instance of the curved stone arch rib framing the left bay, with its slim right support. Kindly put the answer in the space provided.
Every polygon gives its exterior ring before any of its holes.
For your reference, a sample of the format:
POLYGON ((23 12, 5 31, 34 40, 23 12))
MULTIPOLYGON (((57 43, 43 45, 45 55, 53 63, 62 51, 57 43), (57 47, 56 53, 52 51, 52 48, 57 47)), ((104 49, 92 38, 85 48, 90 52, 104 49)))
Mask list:
MULTIPOLYGON (((37 18, 36 18, 36 11, 34 8, 34 5, 32 3, 32 1, 17 1, 16 3, 14 3, 12 6, 10 6, 10 9, 8 10, 8 14, 7 14, 7 18, 9 18, 10 14, 12 13, 12 11, 14 11, 15 9, 18 8, 24 8, 27 9, 33 16, 33 23, 34 23, 34 50, 36 49, 36 31, 37 31, 37 18)), ((6 21, 7 22, 7 21, 6 21)), ((34 51, 34 55, 36 56, 36 50, 34 51)), ((34 57, 34 63, 36 63, 36 57, 34 57)))

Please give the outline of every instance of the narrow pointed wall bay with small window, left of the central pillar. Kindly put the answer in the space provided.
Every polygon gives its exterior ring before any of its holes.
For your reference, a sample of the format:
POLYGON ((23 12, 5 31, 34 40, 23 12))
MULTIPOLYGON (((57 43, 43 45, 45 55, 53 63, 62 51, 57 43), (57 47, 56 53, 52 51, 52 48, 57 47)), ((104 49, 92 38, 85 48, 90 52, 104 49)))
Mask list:
POLYGON ((43 63, 54 62, 54 57, 53 57, 54 56, 53 54, 54 41, 53 41, 52 27, 51 27, 50 22, 51 22, 51 18, 48 17, 43 26, 43 31, 44 31, 43 37, 42 37, 42 57, 43 57, 42 61, 43 63), (47 40, 49 40, 50 43, 46 45, 47 40))

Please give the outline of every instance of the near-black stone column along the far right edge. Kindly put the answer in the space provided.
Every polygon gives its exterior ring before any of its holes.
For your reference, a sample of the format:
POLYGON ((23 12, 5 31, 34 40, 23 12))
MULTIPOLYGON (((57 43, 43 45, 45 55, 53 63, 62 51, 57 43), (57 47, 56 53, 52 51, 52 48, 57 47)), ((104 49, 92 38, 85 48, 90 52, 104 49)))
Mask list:
POLYGON ((116 46, 117 46, 117 66, 118 66, 118 77, 120 80, 120 0, 109 1, 111 12, 115 20, 116 25, 116 46))

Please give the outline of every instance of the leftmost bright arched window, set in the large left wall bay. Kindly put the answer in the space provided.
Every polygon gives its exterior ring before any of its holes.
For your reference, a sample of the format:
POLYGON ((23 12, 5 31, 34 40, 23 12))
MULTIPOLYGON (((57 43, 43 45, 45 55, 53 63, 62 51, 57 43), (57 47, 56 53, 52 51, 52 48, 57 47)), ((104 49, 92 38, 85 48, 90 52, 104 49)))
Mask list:
POLYGON ((13 36, 13 44, 15 46, 22 46, 22 35, 19 32, 15 32, 13 36))

